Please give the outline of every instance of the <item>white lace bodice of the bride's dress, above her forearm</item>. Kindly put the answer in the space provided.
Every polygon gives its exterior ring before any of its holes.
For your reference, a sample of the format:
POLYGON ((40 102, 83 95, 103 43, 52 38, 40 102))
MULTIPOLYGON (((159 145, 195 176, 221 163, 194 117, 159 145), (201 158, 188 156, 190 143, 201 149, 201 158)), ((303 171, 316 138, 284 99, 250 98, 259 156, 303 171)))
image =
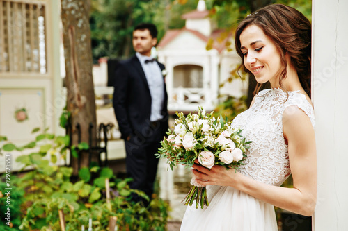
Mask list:
POLYGON ((258 93, 251 108, 242 112, 232 122, 232 127, 242 128, 242 135, 251 140, 246 155, 246 165, 239 171, 269 185, 281 185, 290 176, 287 144, 283 135, 283 112, 296 105, 305 112, 315 126, 312 105, 306 96, 296 92, 265 89, 258 93))

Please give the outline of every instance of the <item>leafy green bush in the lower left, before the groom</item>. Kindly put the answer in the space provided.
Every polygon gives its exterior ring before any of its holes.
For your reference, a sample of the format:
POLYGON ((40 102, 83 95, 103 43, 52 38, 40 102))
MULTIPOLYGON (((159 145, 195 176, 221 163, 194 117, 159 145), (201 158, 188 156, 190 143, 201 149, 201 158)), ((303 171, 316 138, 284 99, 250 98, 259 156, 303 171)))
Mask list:
MULTIPOLYGON (((148 207, 144 207, 143 203, 134 203, 132 194, 147 196, 143 191, 129 188, 128 182, 132 179, 119 179, 112 169, 93 166, 80 169, 79 178, 73 181, 72 168, 56 164, 58 158, 65 158, 68 144, 68 136, 44 133, 25 146, 5 144, 0 148, 0 153, 33 150, 16 160, 24 167, 31 166, 32 170, 22 173, 12 182, 17 196, 11 195, 11 198, 18 198, 17 204, 13 204, 13 214, 22 214, 22 217, 17 216, 19 219, 13 219, 14 227, 21 230, 61 230, 58 216, 61 210, 66 230, 81 230, 82 225, 87 229, 89 219, 93 221, 94 231, 109 230, 111 216, 118 218, 118 230, 166 230, 168 204, 159 198, 153 198, 148 207), (111 194, 109 201, 106 201, 106 179, 109 180, 111 194), (23 213, 20 212, 21 207, 23 213)), ((2 201, 3 198, 0 198, 0 206, 2 201)), ((5 210, 1 207, 1 211, 5 210)))

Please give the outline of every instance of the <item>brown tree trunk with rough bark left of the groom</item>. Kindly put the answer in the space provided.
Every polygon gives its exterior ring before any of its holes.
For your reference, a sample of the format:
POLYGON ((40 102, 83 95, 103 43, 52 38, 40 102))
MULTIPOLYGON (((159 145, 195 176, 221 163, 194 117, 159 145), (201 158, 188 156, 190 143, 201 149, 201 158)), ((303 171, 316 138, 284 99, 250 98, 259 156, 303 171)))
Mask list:
MULTIPOLYGON (((92 50, 89 25, 90 1, 61 0, 63 22, 63 44, 65 55, 65 84, 67 88, 67 110, 71 113, 71 144, 77 146, 81 131, 81 142, 96 144, 95 94, 92 76, 92 50), (89 137, 90 125, 93 125, 89 137)), ((95 160, 95 157, 92 157, 95 160)), ((81 152, 79 160, 70 158, 74 176, 78 173, 78 161, 89 166, 88 151, 81 152)))

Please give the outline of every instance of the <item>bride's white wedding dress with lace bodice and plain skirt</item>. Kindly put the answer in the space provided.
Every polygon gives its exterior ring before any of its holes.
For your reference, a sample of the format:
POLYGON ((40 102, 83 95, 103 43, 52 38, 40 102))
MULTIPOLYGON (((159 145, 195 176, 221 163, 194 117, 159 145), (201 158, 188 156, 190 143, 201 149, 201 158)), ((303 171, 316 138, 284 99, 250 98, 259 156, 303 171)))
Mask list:
MULTIPOLYGON (((312 105, 303 94, 265 89, 255 97, 251 108, 232 123, 253 141, 246 153, 246 165, 239 169, 245 176, 269 185, 280 186, 290 176, 287 144, 283 136, 283 112, 289 106, 301 108, 312 125, 312 105)), ((274 206, 232 187, 207 186, 209 206, 188 206, 180 230, 278 231, 274 206)))

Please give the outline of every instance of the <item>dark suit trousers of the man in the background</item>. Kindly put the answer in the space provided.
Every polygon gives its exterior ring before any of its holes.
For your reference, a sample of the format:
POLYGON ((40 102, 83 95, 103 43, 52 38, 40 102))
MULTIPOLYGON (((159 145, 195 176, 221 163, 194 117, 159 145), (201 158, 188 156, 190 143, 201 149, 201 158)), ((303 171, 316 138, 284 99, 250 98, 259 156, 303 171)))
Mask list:
MULTIPOLYGON (((129 187, 144 191, 150 200, 159 162, 155 154, 161 147, 160 141, 164 138, 166 124, 168 123, 161 121, 150 122, 148 128, 141 132, 134 132, 129 141, 125 141, 127 176, 133 178, 129 187)), ((132 197, 134 201, 143 201, 145 205, 148 205, 147 200, 136 195, 132 197)))

